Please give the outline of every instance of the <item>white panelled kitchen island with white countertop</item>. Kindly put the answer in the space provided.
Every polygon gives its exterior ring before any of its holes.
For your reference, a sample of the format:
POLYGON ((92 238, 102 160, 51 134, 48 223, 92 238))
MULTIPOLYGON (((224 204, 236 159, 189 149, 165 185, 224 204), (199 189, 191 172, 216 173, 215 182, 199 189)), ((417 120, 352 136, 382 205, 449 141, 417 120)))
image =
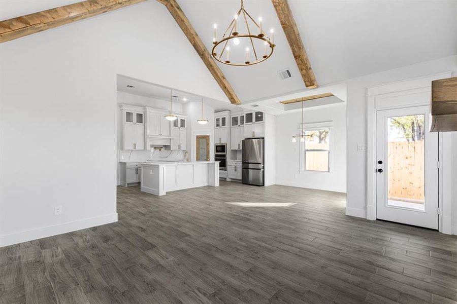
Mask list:
POLYGON ((169 191, 219 186, 219 162, 141 163, 141 191, 162 196, 169 191))

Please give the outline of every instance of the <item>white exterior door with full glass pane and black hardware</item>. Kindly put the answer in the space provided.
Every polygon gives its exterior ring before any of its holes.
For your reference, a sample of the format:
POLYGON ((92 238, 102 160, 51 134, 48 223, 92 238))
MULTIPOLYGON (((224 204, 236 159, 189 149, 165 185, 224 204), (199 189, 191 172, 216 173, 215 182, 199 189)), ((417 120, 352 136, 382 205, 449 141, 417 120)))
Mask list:
POLYGON ((438 133, 429 107, 377 111, 376 218, 438 229, 438 133))

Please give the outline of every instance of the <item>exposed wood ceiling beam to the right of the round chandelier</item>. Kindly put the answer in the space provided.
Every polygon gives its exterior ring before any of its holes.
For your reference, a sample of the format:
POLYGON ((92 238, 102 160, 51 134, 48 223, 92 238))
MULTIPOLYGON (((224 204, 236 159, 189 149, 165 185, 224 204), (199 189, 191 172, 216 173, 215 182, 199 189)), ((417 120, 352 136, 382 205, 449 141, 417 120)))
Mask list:
POLYGON ((308 89, 317 88, 316 77, 314 76, 311 63, 309 62, 308 56, 306 55, 305 47, 303 46, 302 38, 298 30, 295 19, 293 19, 292 11, 287 0, 272 0, 273 6, 278 15, 279 22, 281 23, 282 29, 287 37, 287 41, 292 51, 297 66, 302 74, 305 86, 308 89))

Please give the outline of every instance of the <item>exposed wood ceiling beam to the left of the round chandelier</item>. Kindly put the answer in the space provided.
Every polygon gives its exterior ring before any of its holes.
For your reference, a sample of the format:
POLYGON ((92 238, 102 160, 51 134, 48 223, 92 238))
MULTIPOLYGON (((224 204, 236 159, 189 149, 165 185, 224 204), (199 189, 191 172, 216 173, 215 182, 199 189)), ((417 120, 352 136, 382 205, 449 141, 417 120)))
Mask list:
POLYGON ((165 4, 173 18, 175 18, 176 23, 178 23, 179 27, 181 27, 182 31, 186 35, 189 42, 192 44, 193 48, 199 54, 200 58, 202 58, 203 62, 205 63, 208 70, 213 75, 216 82, 219 84, 222 91, 228 97, 233 104, 241 104, 241 101, 238 99, 235 91, 233 90, 232 86, 226 80, 224 74, 217 66, 214 59, 211 57, 211 54, 208 52, 208 49, 205 47, 205 44, 200 39, 200 36, 195 32, 192 25, 190 24, 189 20, 187 19, 184 12, 179 7, 176 0, 157 0, 160 3, 165 4))

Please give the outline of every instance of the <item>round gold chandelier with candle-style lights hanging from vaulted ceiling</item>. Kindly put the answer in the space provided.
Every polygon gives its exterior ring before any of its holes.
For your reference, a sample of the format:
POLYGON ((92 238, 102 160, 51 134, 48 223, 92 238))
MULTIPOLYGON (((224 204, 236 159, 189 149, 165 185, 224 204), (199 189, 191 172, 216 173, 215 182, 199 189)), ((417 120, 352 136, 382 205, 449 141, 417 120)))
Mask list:
MULTIPOLYGON (((273 29, 270 30, 270 36, 267 36, 266 33, 263 30, 262 26, 262 18, 259 18, 259 23, 255 22, 254 19, 252 19, 251 15, 249 15, 248 12, 244 9, 243 6, 243 0, 241 0, 241 7, 238 11, 238 13, 235 15, 233 18, 232 22, 228 25, 227 29, 225 30, 224 34, 222 35, 222 38, 220 40, 217 40, 217 24, 214 24, 214 37, 213 37, 213 44, 214 47, 211 51, 213 54, 213 57, 224 64, 228 65, 234 65, 234 66, 246 66, 246 65, 252 65, 252 64, 257 64, 262 61, 267 60, 270 58, 270 56, 273 54, 273 50, 275 48, 274 44, 274 31, 273 29), (240 33, 239 26, 238 26, 238 20, 240 19, 240 16, 242 15, 244 19, 244 24, 246 25, 246 31, 247 33, 240 33), (249 20, 249 21, 248 21, 249 20), (251 22, 254 25, 254 31, 251 31, 249 28, 249 22, 251 22), (241 41, 247 41, 246 43, 246 48, 245 48, 245 56, 240 54, 241 51, 241 46, 240 43, 241 41), (232 41, 235 47, 235 50, 238 50, 238 55, 235 62, 232 62, 231 57, 230 57, 230 46, 228 45, 228 42, 232 41), (255 43, 254 43, 255 42, 255 43), (257 44, 257 50, 255 49, 255 45, 257 44), (264 54, 261 55, 257 51, 260 48, 264 48, 264 54), (253 52, 253 57, 250 54, 250 48, 252 47, 252 52, 253 52), (224 55, 225 54, 225 55, 224 55), (240 56, 241 55, 241 56, 240 56), (244 60, 244 62, 243 62, 244 60)), ((233 56, 234 58, 236 56, 233 56)))

